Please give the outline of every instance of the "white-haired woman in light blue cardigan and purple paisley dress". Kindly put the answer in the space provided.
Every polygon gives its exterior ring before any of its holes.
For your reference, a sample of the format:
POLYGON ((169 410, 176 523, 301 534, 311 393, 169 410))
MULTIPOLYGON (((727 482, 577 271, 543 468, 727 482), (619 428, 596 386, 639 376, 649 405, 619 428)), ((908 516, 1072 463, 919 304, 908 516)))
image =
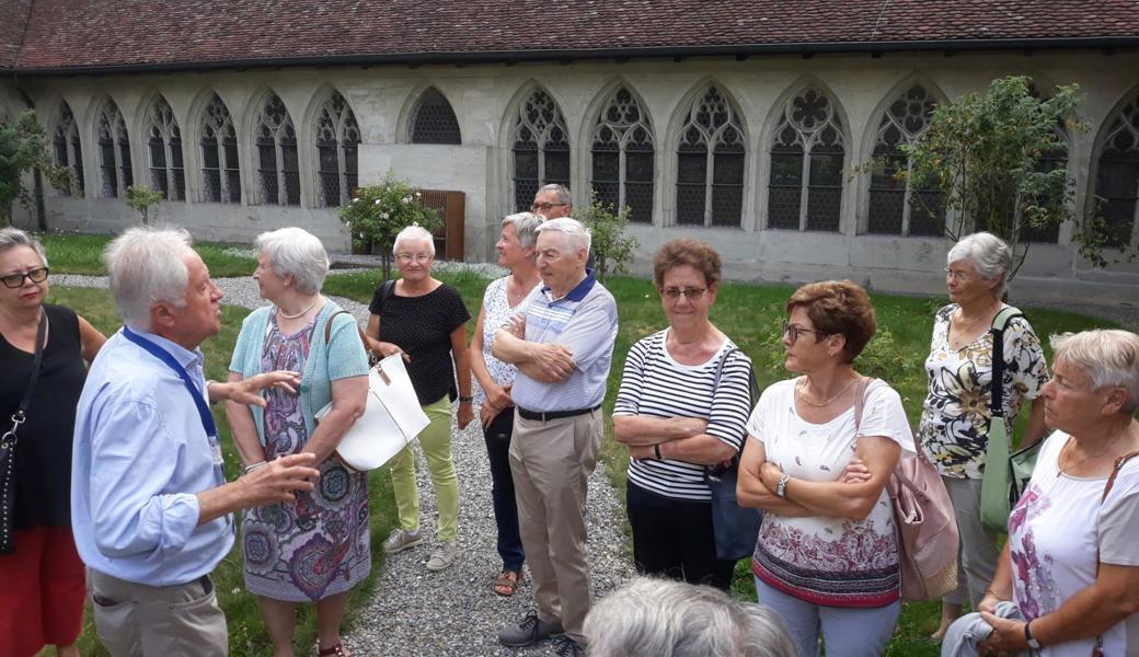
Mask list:
POLYGON ((272 305, 241 323, 230 381, 273 370, 302 372, 300 389, 271 388, 265 408, 226 405, 243 474, 287 454, 311 452, 317 488, 295 502, 245 514, 245 586, 257 597, 276 657, 293 655, 296 606, 317 605, 318 652, 347 655, 341 642, 349 591, 371 568, 367 473, 350 470, 336 446, 363 413, 368 359, 354 318, 320 294, 328 254, 300 228, 257 236, 254 280, 272 305), (316 424, 313 413, 333 403, 316 424))

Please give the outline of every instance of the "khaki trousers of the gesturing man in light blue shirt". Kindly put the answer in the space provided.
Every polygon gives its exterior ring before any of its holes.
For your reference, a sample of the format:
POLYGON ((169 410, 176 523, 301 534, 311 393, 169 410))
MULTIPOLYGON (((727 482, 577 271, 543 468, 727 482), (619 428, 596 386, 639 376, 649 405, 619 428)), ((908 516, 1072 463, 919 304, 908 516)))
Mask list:
POLYGON ((204 575, 174 586, 147 586, 88 569, 99 641, 113 657, 224 657, 226 615, 204 575))

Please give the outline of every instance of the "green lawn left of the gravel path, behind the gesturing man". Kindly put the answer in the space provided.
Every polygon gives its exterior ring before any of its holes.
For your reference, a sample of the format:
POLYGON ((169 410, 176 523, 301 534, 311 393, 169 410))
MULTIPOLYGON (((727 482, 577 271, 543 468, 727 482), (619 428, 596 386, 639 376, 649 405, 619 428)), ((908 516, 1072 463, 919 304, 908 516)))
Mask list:
MULTIPOLYGON (((48 254, 49 257, 54 255, 51 251, 48 254)), ((249 271, 252 269, 244 272, 244 274, 247 274, 249 271)), ((74 309, 105 335, 110 335, 122 326, 110 295, 106 290, 52 287, 49 301, 74 309)), ((233 343, 237 340, 237 334, 241 328, 241 320, 247 313, 248 311, 244 309, 223 306, 221 334, 210 338, 202 345, 206 356, 207 378, 226 378, 229 367, 229 355, 232 352, 233 343)), ((237 452, 233 449, 233 442, 230 440, 229 422, 226 421, 224 408, 215 405, 213 406, 213 412, 218 420, 218 429, 224 447, 226 473, 229 479, 232 481, 237 478, 240 459, 238 459, 237 452)), ((392 479, 387 476, 386 469, 371 473, 368 479, 368 490, 370 495, 369 509, 371 511, 372 570, 367 581, 353 589, 350 609, 359 608, 371 597, 375 590, 376 577, 384 564, 383 540, 395 526, 395 499, 392 495, 392 479)), ((264 632, 261 613, 257 610, 256 598, 245 592, 245 583, 241 577, 241 555, 237 543, 235 543, 233 549, 214 572, 214 583, 218 590, 218 598, 229 621, 230 655, 271 655, 271 646, 264 632)), ((295 641, 295 644, 301 650, 298 654, 309 654, 310 647, 316 644, 316 641, 314 608, 312 605, 303 605, 295 641)), ((80 637, 80 651, 85 656, 104 656, 107 654, 95 637, 90 608, 84 619, 83 634, 80 637)))

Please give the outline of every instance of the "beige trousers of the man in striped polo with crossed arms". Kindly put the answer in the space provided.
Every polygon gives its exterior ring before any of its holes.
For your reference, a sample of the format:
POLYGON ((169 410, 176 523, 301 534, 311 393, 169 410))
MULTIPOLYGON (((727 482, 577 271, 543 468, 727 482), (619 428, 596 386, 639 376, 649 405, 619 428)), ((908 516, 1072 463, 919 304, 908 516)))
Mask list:
POLYGON ((589 613, 585 491, 603 426, 600 409, 546 422, 515 413, 510 441, 518 527, 538 617, 560 621, 566 635, 582 646, 589 613))

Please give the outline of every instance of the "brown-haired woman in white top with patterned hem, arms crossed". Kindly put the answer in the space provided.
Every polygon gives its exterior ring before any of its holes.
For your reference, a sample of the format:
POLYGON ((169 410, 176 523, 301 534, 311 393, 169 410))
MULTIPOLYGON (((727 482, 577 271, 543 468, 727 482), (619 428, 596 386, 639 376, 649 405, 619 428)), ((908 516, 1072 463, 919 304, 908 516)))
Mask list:
POLYGON ((778 611, 800 657, 882 655, 901 610, 893 517, 885 492, 913 438, 901 397, 860 386, 854 359, 876 330, 866 290, 805 285, 787 301, 785 367, 747 421, 737 496, 765 512, 752 570, 759 600, 778 611), (855 400, 865 389, 861 422, 855 400), (868 476, 843 477, 847 465, 868 476))

